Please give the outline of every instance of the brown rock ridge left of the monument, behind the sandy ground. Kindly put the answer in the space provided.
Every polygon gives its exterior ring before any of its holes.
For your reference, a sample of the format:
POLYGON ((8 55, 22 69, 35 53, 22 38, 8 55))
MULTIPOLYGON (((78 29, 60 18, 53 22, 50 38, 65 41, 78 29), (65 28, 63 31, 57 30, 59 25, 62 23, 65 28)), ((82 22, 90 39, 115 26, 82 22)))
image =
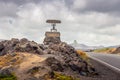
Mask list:
POLYGON ((43 54, 43 47, 34 41, 29 41, 26 38, 21 40, 11 39, 0 42, 0 55, 5 55, 13 52, 29 52, 43 54))

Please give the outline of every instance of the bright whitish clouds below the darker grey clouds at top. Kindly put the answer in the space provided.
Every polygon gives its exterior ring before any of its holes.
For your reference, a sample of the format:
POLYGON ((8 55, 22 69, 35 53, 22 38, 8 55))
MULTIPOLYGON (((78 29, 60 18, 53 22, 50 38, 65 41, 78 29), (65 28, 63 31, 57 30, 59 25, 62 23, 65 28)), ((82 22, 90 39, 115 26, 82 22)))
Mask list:
MULTIPOLYGON (((73 7, 83 9, 86 1, 75 0, 73 7)), ((26 37, 42 42, 44 32, 50 29, 50 24, 45 23, 46 19, 60 19, 62 24, 57 25, 57 28, 63 41, 72 42, 75 39, 89 45, 120 44, 119 16, 99 12, 76 13, 60 0, 26 3, 16 9, 14 14, 17 17, 0 18, 0 37, 3 39, 26 37)))

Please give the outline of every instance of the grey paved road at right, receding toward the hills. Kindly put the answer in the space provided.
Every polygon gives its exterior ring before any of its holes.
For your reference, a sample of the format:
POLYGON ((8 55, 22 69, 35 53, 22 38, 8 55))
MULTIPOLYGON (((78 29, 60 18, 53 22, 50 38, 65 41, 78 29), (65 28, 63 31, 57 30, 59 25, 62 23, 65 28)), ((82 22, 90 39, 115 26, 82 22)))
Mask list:
POLYGON ((102 54, 102 53, 88 53, 88 56, 92 56, 94 58, 97 58, 100 61, 106 62, 106 63, 120 69, 120 55, 102 54))

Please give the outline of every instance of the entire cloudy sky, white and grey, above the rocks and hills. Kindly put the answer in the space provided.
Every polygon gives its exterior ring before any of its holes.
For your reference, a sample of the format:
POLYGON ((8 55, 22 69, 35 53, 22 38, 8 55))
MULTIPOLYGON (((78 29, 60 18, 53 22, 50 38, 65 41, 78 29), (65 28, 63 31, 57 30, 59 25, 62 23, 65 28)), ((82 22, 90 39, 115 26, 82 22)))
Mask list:
POLYGON ((42 43, 59 19, 62 41, 87 45, 120 44, 120 0, 0 0, 0 38, 28 38, 42 43))

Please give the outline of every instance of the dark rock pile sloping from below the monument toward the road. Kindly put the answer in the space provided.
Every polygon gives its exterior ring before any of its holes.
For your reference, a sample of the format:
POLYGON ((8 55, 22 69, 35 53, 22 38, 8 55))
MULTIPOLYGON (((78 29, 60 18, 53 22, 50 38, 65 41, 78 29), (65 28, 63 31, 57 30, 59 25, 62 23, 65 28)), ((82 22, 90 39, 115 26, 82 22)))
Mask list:
POLYGON ((45 50, 47 50, 47 54, 55 55, 55 57, 49 57, 46 60, 52 70, 65 71, 70 69, 86 76, 95 73, 95 69, 84 61, 76 50, 67 43, 51 44, 45 50))

